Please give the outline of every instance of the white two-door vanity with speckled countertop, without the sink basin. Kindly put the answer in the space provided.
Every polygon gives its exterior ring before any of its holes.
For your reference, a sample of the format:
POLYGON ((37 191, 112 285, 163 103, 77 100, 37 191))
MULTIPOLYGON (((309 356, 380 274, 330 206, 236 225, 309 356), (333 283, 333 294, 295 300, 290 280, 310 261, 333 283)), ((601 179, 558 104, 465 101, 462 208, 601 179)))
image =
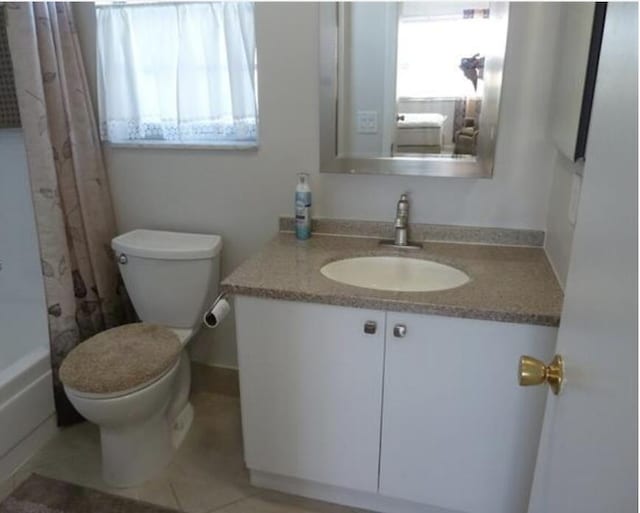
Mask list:
POLYGON ((536 247, 280 233, 223 282, 235 296, 252 483, 378 511, 526 511, 562 293, 536 247), (463 286, 393 292, 320 273, 347 256, 453 266, 463 286))

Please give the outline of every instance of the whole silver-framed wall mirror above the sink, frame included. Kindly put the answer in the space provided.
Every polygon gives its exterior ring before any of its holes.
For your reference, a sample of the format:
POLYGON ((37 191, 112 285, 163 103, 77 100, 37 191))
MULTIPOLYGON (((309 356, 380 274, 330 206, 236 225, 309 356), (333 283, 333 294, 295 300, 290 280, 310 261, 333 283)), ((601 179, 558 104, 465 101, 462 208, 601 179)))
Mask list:
POLYGON ((508 3, 320 9, 321 172, 492 175, 508 3))

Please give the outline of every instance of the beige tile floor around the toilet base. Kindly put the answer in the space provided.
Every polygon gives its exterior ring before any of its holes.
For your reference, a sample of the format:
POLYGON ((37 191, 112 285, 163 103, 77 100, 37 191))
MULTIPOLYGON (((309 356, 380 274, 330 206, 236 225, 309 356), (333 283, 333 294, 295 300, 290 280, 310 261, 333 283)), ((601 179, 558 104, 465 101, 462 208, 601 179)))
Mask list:
POLYGON ((195 419, 170 465, 142 486, 113 489, 100 476, 95 426, 60 431, 5 483, 0 499, 31 473, 139 499, 185 513, 348 513, 358 511, 254 488, 242 457, 240 401, 234 373, 194 366, 195 419))

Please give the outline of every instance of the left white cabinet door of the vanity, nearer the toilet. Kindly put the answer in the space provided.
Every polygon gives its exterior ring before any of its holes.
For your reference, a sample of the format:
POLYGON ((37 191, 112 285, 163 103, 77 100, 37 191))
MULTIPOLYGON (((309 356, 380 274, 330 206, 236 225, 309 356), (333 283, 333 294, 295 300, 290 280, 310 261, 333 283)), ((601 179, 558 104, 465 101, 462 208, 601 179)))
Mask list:
POLYGON ((377 491, 384 312, 242 296, 235 307, 247 466, 377 491))

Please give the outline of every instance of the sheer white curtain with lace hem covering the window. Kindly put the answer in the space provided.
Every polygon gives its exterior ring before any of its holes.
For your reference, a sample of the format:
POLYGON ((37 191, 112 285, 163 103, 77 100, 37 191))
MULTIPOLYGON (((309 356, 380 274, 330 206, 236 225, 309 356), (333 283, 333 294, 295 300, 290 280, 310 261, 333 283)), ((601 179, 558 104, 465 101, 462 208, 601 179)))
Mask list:
POLYGON ((257 140, 253 3, 101 5, 103 140, 257 140))

